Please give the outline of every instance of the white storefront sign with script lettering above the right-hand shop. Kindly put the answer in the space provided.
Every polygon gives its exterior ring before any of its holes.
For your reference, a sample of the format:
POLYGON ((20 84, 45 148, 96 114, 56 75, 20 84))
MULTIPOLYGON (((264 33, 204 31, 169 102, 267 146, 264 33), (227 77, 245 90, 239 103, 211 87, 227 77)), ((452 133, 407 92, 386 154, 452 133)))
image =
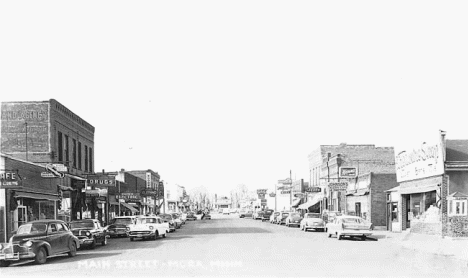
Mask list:
POLYGON ((442 142, 422 143, 413 148, 395 148, 397 182, 427 178, 444 173, 442 142))

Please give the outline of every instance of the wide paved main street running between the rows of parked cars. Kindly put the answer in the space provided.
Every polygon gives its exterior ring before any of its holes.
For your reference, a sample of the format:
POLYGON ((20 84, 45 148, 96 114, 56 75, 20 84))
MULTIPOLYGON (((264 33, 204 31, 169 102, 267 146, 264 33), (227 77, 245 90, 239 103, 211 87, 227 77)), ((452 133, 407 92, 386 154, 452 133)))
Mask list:
POLYGON ((110 239, 107 246, 0 269, 2 277, 307 276, 467 277, 466 262, 403 249, 396 239, 337 240, 237 214, 187 222, 156 241, 110 239))

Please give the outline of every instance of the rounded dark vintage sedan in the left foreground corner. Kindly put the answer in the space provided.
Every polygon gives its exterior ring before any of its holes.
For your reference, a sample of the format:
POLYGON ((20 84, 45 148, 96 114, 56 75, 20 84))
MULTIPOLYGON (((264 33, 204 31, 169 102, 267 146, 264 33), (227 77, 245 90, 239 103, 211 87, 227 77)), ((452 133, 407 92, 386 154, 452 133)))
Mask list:
POLYGON ((43 264, 47 257, 67 253, 76 256, 80 241, 61 220, 36 220, 21 225, 8 243, 0 244, 0 266, 20 260, 43 264))

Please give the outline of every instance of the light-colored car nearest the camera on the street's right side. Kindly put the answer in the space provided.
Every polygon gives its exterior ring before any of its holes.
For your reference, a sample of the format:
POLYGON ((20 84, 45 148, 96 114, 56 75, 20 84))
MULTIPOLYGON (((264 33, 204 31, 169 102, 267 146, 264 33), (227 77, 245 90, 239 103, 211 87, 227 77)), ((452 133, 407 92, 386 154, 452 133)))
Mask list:
POLYGON ((372 235, 372 223, 369 223, 358 216, 342 215, 337 216, 333 222, 328 222, 325 226, 328 237, 335 235, 338 240, 344 236, 360 237, 365 240, 372 235))

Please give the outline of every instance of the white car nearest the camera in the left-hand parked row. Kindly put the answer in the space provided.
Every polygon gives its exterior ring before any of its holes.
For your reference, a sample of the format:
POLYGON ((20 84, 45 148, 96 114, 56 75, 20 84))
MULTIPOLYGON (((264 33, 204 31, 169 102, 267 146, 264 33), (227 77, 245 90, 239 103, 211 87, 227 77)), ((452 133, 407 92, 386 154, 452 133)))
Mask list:
POLYGON ((156 240, 158 237, 166 237, 169 226, 158 216, 140 216, 135 219, 135 224, 129 225, 128 237, 130 241, 135 238, 150 238, 156 240))

